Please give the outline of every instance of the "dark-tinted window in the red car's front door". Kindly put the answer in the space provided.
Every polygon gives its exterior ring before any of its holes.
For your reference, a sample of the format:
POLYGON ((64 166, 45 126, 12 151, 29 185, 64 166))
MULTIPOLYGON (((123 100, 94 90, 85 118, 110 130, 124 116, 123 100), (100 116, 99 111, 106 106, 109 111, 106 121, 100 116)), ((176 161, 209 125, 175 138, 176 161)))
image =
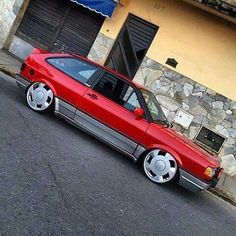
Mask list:
POLYGON ((105 73, 94 90, 130 111, 140 107, 133 87, 114 75, 105 73))

